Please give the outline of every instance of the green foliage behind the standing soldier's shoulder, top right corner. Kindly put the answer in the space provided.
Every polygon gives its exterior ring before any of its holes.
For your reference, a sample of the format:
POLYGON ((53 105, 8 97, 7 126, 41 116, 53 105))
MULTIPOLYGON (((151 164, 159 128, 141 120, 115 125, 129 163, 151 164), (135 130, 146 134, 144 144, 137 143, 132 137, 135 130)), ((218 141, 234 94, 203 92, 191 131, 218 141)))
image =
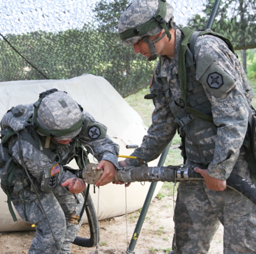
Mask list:
MULTIPOLYGON (((196 30, 205 28, 214 2, 204 2, 204 15, 194 15, 188 21, 188 25, 196 30)), ((248 49, 256 47, 255 20, 255 0, 222 1, 211 29, 230 38, 236 50, 248 49)))

